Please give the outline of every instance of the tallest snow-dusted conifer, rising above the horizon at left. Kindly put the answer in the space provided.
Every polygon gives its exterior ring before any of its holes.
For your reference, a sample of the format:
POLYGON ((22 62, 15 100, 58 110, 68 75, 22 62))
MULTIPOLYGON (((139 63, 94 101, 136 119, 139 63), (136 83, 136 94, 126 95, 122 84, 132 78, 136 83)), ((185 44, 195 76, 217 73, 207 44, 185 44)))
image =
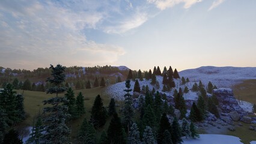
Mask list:
POLYGON ((56 97, 49 98, 49 100, 44 100, 43 114, 46 115, 42 118, 43 121, 43 136, 41 140, 44 143, 67 143, 68 136, 70 134, 70 129, 66 125, 67 119, 70 115, 68 113, 68 107, 62 105, 61 103, 67 103, 67 99, 64 97, 58 97, 58 94, 66 91, 66 87, 61 86, 65 81, 65 71, 66 67, 62 65, 50 65, 52 69, 52 78, 48 77, 47 82, 52 83, 52 87, 47 89, 47 94, 56 94, 56 97), (52 107, 49 107, 52 105, 52 107))

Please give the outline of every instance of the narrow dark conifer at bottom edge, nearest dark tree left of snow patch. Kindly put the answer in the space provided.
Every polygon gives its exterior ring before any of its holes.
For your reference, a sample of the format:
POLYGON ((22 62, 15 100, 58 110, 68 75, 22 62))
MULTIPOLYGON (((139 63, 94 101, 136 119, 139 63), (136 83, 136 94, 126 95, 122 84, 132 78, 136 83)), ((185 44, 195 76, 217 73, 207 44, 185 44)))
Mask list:
POLYGON ((180 125, 178 124, 178 120, 176 117, 174 117, 174 120, 172 121, 172 131, 171 131, 171 138, 172 138, 172 143, 181 143, 183 140, 181 139, 181 128, 180 125))

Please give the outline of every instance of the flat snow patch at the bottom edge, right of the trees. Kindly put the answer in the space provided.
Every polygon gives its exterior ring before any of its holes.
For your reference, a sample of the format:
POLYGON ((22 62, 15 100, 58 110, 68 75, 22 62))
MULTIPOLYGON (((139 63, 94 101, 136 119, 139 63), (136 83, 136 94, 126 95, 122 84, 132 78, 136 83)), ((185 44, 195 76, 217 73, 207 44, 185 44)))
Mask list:
POLYGON ((243 144, 239 137, 224 134, 200 134, 199 139, 183 139, 183 144, 243 144))

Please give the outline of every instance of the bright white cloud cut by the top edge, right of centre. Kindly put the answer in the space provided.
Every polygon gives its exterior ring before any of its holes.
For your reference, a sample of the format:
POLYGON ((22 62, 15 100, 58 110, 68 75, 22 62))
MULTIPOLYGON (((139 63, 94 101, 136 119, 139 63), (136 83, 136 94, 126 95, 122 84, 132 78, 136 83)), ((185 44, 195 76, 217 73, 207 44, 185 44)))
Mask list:
POLYGON ((184 8, 190 8, 192 5, 201 2, 203 0, 147 0, 151 4, 155 4, 160 10, 174 7, 174 5, 184 3, 184 8))

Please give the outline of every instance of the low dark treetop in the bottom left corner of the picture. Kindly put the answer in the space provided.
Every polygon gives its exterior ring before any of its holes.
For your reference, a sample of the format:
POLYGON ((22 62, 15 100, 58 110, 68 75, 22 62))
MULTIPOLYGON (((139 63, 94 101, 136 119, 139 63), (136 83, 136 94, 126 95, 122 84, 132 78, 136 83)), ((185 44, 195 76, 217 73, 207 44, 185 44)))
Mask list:
POLYGON ((4 143, 8 144, 22 144, 22 139, 19 138, 19 134, 17 131, 11 129, 7 134, 4 136, 4 143))

